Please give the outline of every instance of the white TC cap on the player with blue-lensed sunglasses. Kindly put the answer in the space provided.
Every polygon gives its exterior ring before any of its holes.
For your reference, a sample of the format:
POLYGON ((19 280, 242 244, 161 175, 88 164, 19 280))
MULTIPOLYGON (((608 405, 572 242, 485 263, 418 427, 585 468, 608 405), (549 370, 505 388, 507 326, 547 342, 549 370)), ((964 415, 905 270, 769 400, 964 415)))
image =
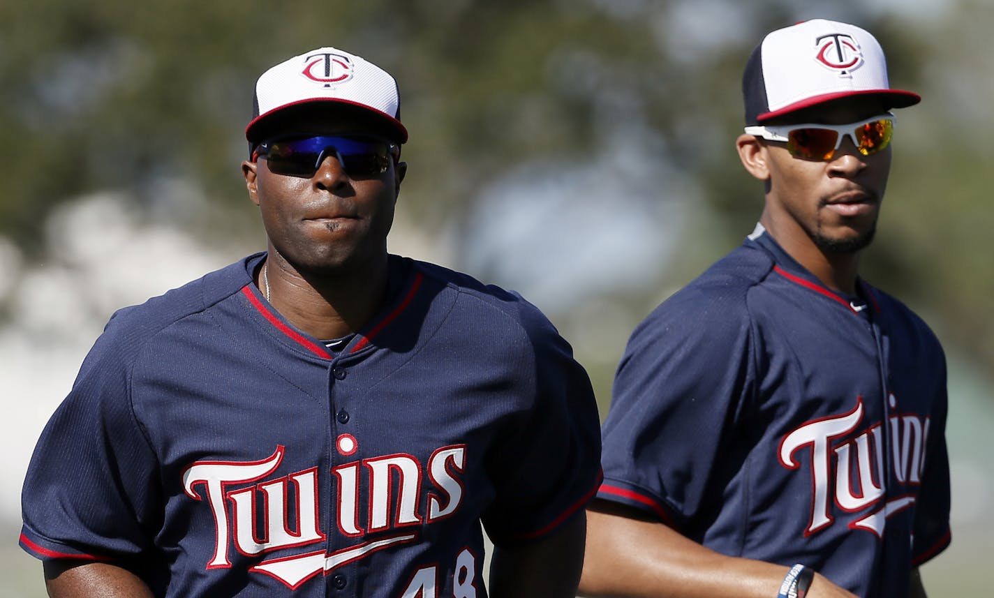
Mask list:
POLYGON ((265 125, 287 108, 320 103, 371 113, 392 141, 408 140, 397 80, 373 63, 335 48, 305 52, 258 77, 246 138, 251 143, 261 141, 267 134, 265 125))

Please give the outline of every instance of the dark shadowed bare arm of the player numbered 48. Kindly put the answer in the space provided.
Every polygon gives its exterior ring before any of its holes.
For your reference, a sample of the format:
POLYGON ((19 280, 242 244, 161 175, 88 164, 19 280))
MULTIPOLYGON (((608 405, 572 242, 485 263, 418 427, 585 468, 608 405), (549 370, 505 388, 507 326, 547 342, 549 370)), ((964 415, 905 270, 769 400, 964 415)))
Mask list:
POLYGON ((493 598, 574 598, 583 566, 586 518, 582 511, 537 542, 494 546, 493 598))

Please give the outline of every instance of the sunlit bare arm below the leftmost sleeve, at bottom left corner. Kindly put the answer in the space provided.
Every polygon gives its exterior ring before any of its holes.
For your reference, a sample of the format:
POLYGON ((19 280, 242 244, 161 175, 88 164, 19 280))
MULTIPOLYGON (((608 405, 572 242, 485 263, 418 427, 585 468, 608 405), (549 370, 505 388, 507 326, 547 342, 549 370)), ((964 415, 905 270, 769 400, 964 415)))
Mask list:
POLYGON ((103 562, 45 561, 45 587, 52 598, 153 598, 141 579, 127 569, 103 562))

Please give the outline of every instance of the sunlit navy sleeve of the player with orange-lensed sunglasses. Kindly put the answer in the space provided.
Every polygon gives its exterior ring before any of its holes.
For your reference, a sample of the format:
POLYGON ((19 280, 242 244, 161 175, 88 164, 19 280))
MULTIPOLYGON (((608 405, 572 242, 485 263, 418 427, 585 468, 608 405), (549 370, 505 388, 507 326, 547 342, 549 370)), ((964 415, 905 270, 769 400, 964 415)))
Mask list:
POLYGON ((722 440, 754 381, 744 304, 685 289, 632 333, 604 422, 598 499, 683 530, 707 507, 709 485, 734 473, 722 440))

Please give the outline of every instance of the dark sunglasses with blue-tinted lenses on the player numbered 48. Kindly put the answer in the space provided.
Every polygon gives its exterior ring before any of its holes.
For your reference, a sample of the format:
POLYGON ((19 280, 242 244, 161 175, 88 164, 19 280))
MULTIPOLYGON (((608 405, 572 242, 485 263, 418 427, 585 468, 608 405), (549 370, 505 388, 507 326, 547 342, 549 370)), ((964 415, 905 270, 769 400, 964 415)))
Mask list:
POLYGON ((350 178, 361 178, 387 172, 398 149, 397 144, 381 139, 315 135, 263 141, 253 158, 264 159, 277 175, 310 178, 325 158, 334 156, 350 178))

